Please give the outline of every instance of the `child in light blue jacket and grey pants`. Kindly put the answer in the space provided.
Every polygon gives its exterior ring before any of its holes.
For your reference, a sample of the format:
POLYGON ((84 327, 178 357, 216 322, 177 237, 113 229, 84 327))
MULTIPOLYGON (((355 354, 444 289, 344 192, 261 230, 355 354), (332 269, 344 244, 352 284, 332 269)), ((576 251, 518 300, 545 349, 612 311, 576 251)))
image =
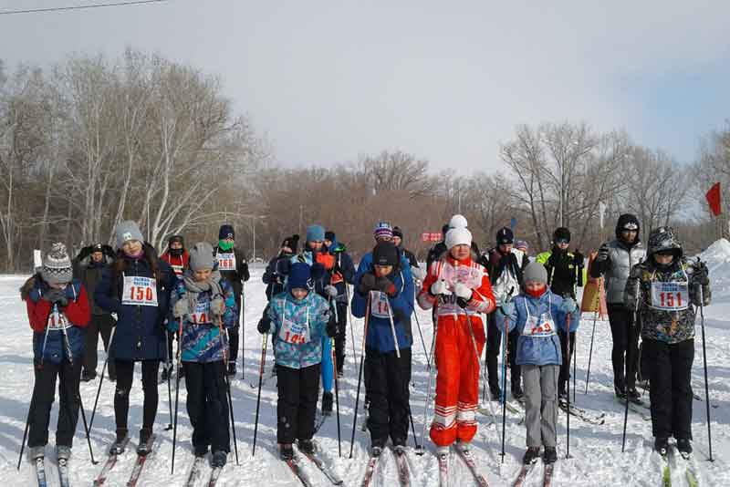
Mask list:
POLYGON ((517 365, 522 367, 525 384, 525 424, 527 451, 523 462, 533 463, 545 446, 543 461, 558 460, 556 423, 558 421, 558 374, 562 363, 558 328, 570 332, 578 329, 578 306, 571 297, 561 298, 547 288, 547 270, 543 264, 527 264, 523 271, 522 293, 511 301, 497 304, 497 324, 505 319, 509 331, 517 338, 517 365))

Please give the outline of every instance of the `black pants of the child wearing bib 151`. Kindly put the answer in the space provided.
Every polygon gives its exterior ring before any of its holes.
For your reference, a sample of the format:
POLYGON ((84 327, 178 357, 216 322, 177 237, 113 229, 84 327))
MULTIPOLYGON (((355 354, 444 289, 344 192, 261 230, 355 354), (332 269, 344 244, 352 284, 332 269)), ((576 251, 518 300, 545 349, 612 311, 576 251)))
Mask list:
POLYGON ((655 438, 692 440, 692 363, 694 339, 668 345, 643 340, 652 387, 652 433, 655 438))

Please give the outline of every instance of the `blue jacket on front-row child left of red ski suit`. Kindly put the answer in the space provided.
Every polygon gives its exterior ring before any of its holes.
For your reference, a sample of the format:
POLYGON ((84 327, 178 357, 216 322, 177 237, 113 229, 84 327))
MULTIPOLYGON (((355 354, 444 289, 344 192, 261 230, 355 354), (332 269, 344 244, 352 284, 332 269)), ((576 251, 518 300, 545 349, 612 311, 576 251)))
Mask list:
MULTIPOLYGON (((398 294, 386 295, 380 291, 370 291, 370 316, 368 317, 368 336, 365 346, 381 353, 395 350, 392 326, 399 349, 413 344, 411 313, 413 310, 413 280, 406 278, 400 269, 393 269, 388 276, 398 294)), ((368 295, 356 291, 352 294, 352 315, 363 317, 368 312, 368 295)))

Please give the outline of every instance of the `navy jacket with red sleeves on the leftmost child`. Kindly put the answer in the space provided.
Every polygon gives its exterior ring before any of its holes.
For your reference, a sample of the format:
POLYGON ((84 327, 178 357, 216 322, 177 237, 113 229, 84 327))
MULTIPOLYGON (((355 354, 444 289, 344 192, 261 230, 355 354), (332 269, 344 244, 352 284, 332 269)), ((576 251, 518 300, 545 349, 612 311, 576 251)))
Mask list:
POLYGON ((78 279, 71 281, 66 286, 68 306, 57 310, 55 316, 53 304, 43 297, 47 289, 48 285, 40 275, 32 276, 21 288, 21 297, 26 301, 28 321, 33 328, 33 358, 36 362, 48 360, 53 364, 60 364, 63 360, 68 360, 70 349, 71 357, 81 360, 84 355, 86 326, 91 317, 86 289, 78 279), (68 343, 62 329, 53 329, 63 318, 68 321, 68 343), (48 330, 47 325, 50 325, 48 330))

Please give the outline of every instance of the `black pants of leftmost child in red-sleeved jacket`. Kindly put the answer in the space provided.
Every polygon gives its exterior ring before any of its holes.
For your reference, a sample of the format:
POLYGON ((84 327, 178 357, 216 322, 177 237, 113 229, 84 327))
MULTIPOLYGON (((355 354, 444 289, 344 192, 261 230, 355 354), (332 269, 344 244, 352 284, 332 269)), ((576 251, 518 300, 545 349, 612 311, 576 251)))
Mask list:
POLYGON ((81 360, 73 364, 64 360, 60 364, 44 361, 34 363, 36 382, 30 399, 30 426, 28 447, 46 446, 48 423, 53 406, 58 378, 58 420, 56 423, 56 445, 72 446, 78 421, 78 382, 81 379, 81 360))

